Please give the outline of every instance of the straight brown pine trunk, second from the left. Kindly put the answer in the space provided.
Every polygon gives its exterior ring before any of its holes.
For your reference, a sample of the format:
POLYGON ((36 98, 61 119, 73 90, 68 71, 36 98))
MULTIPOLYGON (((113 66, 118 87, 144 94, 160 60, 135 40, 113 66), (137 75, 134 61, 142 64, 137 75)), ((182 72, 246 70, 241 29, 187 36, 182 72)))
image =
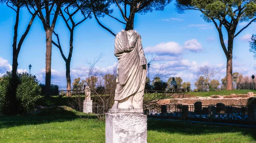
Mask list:
POLYGON ((51 62, 52 62, 52 30, 46 30, 46 62, 45 62, 45 93, 50 97, 51 87, 51 62))

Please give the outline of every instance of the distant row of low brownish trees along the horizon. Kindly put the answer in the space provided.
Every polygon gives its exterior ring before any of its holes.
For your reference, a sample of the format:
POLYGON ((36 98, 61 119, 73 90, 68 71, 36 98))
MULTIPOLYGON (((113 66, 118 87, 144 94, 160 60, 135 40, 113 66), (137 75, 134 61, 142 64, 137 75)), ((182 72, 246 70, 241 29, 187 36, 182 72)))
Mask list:
MULTIPOLYGON (((208 67, 208 66, 205 66, 208 67)), ((209 67, 208 67, 209 68, 209 67)), ((201 67, 202 69, 202 67, 201 67)), ((196 87, 195 90, 209 90, 209 91, 216 91, 216 90, 225 90, 227 86, 227 77, 225 76, 223 79, 218 81, 217 79, 211 79, 209 78, 210 75, 206 76, 199 76, 198 80, 195 81, 194 85, 196 87), (221 87, 220 87, 221 85, 221 87)), ((238 72, 232 74, 233 79, 233 89, 256 89, 256 85, 253 84, 253 81, 251 77, 249 76, 243 76, 242 74, 239 74, 238 72)), ((164 90, 170 90, 173 89, 173 85, 171 83, 172 77, 168 79, 168 81, 161 80, 160 77, 156 77, 154 81, 150 82, 148 77, 146 77, 146 90, 158 90, 158 91, 164 91, 164 90)), ((175 77, 175 81, 177 82, 177 88, 187 88, 189 87, 189 90, 191 90, 191 83, 183 82, 183 79, 181 77, 175 77)), ((84 85, 88 85, 91 88, 96 87, 105 87, 107 90, 114 90, 116 87, 116 75, 113 74, 105 74, 104 76, 91 76, 90 78, 86 78, 85 80, 81 80, 81 78, 77 78, 74 80, 73 84, 73 90, 82 90, 84 88, 84 85)))

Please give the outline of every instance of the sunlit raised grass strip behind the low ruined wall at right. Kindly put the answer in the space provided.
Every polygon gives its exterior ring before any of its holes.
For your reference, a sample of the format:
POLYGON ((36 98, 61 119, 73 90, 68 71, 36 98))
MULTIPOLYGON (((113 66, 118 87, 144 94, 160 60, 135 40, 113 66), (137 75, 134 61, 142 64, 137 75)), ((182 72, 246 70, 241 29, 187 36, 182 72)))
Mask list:
POLYGON ((187 95, 207 97, 211 95, 230 95, 230 94, 247 94, 248 92, 256 93, 256 90, 221 90, 221 91, 210 91, 210 92, 190 92, 187 95))

